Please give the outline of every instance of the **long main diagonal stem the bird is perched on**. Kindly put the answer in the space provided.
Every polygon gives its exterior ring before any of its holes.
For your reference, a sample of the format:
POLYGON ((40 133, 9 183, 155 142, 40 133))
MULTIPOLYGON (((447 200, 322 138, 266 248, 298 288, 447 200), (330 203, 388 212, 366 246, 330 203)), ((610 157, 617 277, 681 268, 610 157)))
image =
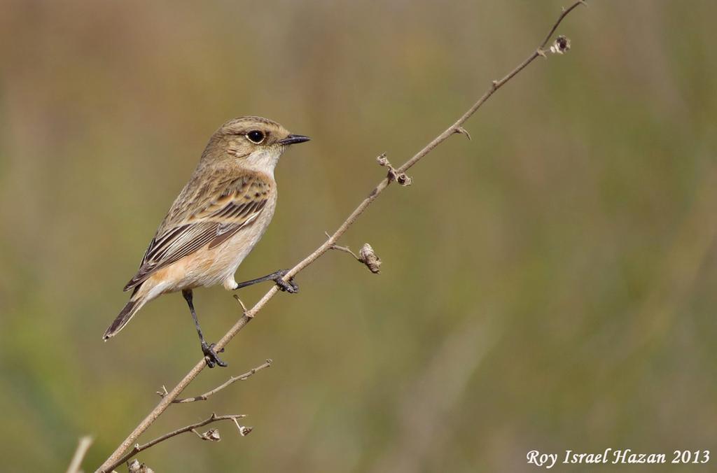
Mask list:
MULTIPOLYGON (((428 153, 433 151, 438 145, 443 143, 445 140, 450 138, 450 136, 454 135, 455 133, 462 133, 462 125, 470 118, 476 110, 478 110, 486 100, 488 100, 496 90, 500 89, 500 87, 503 87, 506 82, 511 80, 513 77, 515 77, 519 72, 521 72, 523 69, 525 69, 531 62, 533 62, 538 56, 545 56, 545 53, 543 52, 543 48, 546 47, 546 44, 550 41, 553 34, 556 32, 556 29, 559 27, 563 19, 578 5, 584 4, 583 0, 576 1, 574 4, 572 4, 568 9, 564 9, 556 22, 551 27, 548 35, 546 36, 546 39, 543 40, 543 42, 538 46, 538 48, 533 51, 530 56, 528 56, 527 59, 525 59, 523 62, 521 62, 518 67, 516 67, 511 72, 508 72, 508 75, 505 75, 500 80, 494 80, 488 90, 481 96, 477 102, 475 102, 458 120, 455 121, 452 125, 450 125, 448 128, 446 128, 440 135, 438 135, 436 138, 434 138, 430 143, 424 146, 418 153, 416 153, 412 158, 410 158, 408 161, 406 161, 401 167, 395 169, 395 173, 397 175, 404 174, 409 168, 414 166, 418 161, 421 160, 424 156, 426 156, 428 153)), ((300 271, 308 267, 311 263, 315 262, 319 257, 321 257, 323 254, 328 252, 335 244, 338 242, 338 239, 341 238, 343 234, 346 233, 348 228, 357 220, 359 219, 359 216, 364 213, 364 211, 371 205, 371 203, 376 200, 376 198, 383 192, 386 187, 389 186, 389 183, 391 183, 392 179, 390 176, 387 176, 386 178, 382 179, 381 182, 374 188, 373 191, 369 194, 369 196, 364 199, 364 201, 361 201, 361 204, 354 209, 353 212, 351 212, 351 215, 348 216, 348 218, 343 221, 343 224, 338 227, 336 231, 331 235, 331 237, 326 240, 323 244, 320 245, 317 249, 314 250, 311 254, 308 255, 308 257, 305 257, 302 261, 300 261, 298 264, 295 265, 292 269, 289 270, 289 272, 285 275, 284 280, 286 282, 289 281, 292 277, 295 277, 296 274, 298 274, 300 271)), ((229 343, 229 340, 232 340, 234 336, 239 333, 246 325, 247 323, 252 320, 257 313, 262 310, 262 308, 267 305, 267 302, 269 302, 272 297, 274 297, 278 292, 278 289, 276 286, 272 287, 250 310, 247 310, 244 312, 241 318, 232 326, 232 328, 229 329, 229 331, 222 337, 221 340, 216 345, 217 350, 221 350, 224 348, 227 343, 229 343)), ((108 457, 108 459, 105 460, 105 462, 100 466, 98 469, 98 472, 108 472, 112 466, 117 464, 117 459, 120 458, 124 451, 130 448, 132 444, 134 444, 139 436, 143 434, 144 431, 148 429, 149 426, 160 416, 166 408, 168 408, 171 403, 176 399, 179 394, 184 391, 184 388, 186 386, 189 386, 189 383, 196 378, 199 373, 201 373, 202 370, 206 367, 206 363, 204 361, 204 358, 199 360, 196 365, 194 365, 194 368, 189 371, 189 373, 184 376, 184 378, 179 381, 179 383, 172 389, 166 396, 162 398, 162 400, 157 404, 155 408, 138 424, 138 426, 135 427, 135 429, 127 436, 127 438, 115 449, 113 454, 108 457)))

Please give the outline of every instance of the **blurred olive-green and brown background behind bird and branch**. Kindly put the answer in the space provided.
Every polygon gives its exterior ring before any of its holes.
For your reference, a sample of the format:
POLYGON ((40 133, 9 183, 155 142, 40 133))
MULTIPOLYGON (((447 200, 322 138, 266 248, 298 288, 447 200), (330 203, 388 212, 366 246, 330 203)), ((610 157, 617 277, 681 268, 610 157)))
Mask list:
MULTIPOLYGON (((92 470, 196 363, 179 295, 108 343, 159 221, 225 120, 313 140, 237 279, 290 267, 541 41, 564 1, 25 1, 0 15, 1 469, 92 470)), ((158 472, 532 472, 531 449, 715 449, 712 1, 592 1, 392 186, 142 437, 158 472)), ((247 304, 267 285, 242 290, 247 304)), ((198 290, 204 332, 239 316, 198 290)), ((717 457, 717 451, 713 451, 717 457)), ((660 471, 708 471, 711 465, 660 471)), ((554 471, 652 471, 558 465, 554 471)))

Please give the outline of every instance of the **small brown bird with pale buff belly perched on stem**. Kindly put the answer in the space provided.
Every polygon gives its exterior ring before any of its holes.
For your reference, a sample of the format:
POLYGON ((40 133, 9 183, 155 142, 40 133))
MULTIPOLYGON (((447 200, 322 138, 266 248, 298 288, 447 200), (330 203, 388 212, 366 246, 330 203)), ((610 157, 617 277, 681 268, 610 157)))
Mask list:
POLYGON ((222 283, 235 290, 274 281, 297 292, 287 270, 237 283, 234 272, 267 229, 276 207, 274 168, 286 147, 309 138, 290 134, 260 117, 229 120, 209 138, 199 165, 159 225, 137 274, 125 286, 132 297, 103 337, 116 335, 147 302, 181 291, 189 305, 206 364, 226 366, 206 343, 199 327, 192 290, 222 283))

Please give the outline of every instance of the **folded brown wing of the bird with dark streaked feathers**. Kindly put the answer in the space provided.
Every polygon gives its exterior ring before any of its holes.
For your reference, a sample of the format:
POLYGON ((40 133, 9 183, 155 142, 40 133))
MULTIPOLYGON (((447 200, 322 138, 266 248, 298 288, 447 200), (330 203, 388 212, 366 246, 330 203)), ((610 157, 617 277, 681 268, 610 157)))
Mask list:
MULTIPOLYGON (((177 199, 149 243, 137 274, 125 291, 141 285, 158 269, 209 245, 217 247, 257 219, 267 204, 271 184, 247 174, 216 186, 199 188, 188 199, 177 199), (176 223, 167 224, 168 220, 176 223)), ((184 193, 184 192, 183 192, 184 193)))

